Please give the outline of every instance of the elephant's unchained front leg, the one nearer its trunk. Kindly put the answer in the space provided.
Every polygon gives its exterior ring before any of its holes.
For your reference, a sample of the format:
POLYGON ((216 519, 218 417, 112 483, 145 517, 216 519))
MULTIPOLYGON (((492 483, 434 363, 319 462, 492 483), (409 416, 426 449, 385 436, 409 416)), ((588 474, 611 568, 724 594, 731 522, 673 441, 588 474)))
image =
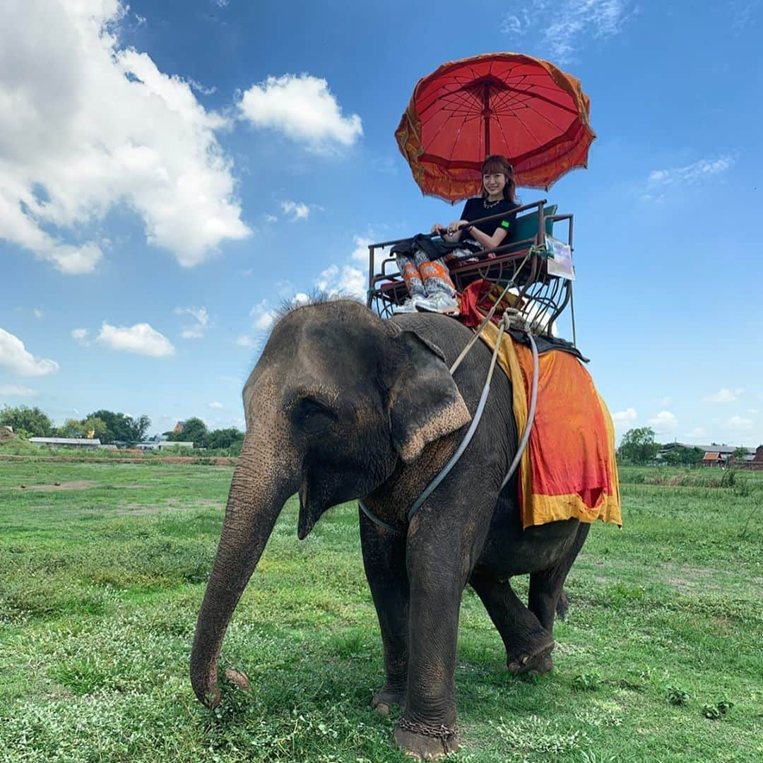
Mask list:
POLYGON ((384 649, 385 685, 374 694, 371 707, 388 715, 393 705, 404 705, 408 677, 405 540, 375 525, 361 512, 360 543, 384 649))

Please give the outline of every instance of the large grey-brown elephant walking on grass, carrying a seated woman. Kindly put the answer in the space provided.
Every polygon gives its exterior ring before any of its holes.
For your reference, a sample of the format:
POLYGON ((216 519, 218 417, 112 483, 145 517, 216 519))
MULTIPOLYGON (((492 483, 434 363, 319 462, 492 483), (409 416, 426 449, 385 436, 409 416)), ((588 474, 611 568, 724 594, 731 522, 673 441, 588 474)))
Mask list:
POLYGON ((299 539, 346 501, 361 500, 374 517, 359 511, 385 668, 372 707, 386 714, 400 705, 394 742, 408 755, 459 749, 454 671, 467 583, 504 642, 509 670, 552 668, 555 609, 566 606, 562 586, 590 525, 570 519, 523 530, 516 475, 501 489, 519 439, 504 372, 495 372, 462 458, 407 517, 477 407, 488 347, 476 343, 449 372, 472 336, 452 317, 381 320, 347 299, 306 304, 278 319, 243 387, 246 435, 195 629, 190 672, 202 703, 220 701, 227 625, 294 494, 299 539), (510 583, 526 574, 527 606, 510 583))

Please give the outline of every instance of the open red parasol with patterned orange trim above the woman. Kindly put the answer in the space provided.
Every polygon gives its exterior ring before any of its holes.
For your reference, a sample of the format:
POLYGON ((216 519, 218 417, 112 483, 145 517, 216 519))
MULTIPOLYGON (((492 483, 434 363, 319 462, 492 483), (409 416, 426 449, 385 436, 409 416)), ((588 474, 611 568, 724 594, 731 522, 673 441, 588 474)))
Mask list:
POLYGON ((394 135, 422 192, 459 201, 479 195, 489 154, 506 156, 529 188, 586 166, 590 107, 579 80, 552 63, 486 53, 420 79, 394 135))

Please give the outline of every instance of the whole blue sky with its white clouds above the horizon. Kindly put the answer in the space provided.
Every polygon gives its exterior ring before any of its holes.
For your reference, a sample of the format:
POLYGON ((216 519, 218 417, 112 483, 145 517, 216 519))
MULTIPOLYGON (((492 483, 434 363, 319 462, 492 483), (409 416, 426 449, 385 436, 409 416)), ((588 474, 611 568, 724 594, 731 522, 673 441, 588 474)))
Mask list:
POLYGON ((618 430, 763 443, 759 0, 12 5, 0 404, 243 427, 275 305, 362 291, 369 240, 457 217, 394 142, 417 80, 515 50, 591 97, 588 169, 544 196, 575 214, 578 345, 618 430))

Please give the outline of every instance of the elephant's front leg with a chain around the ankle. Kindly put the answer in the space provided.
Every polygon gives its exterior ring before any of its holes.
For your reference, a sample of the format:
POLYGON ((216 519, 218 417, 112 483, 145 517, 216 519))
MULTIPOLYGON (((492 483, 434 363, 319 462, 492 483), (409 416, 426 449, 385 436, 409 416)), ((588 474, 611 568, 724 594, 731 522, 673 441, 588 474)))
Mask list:
POLYGON ((407 700, 394 740, 414 757, 438 758, 460 746, 454 672, 461 576, 455 551, 450 559, 440 554, 437 559, 408 560, 407 700))

